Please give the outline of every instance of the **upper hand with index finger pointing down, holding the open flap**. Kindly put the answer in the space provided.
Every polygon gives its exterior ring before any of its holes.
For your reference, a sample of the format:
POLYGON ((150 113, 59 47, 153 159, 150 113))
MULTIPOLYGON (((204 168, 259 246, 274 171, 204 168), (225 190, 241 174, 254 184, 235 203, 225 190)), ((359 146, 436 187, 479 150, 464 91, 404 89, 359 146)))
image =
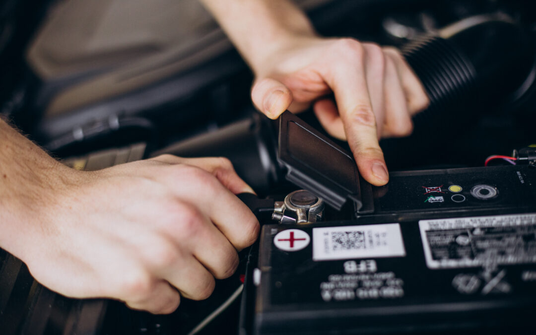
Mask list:
POLYGON ((429 100, 397 49, 353 39, 308 37, 286 43, 254 64, 251 98, 270 118, 313 109, 325 130, 348 140, 361 175, 388 182, 381 137, 407 136, 411 117, 429 100), (326 95, 334 93, 336 103, 326 95))

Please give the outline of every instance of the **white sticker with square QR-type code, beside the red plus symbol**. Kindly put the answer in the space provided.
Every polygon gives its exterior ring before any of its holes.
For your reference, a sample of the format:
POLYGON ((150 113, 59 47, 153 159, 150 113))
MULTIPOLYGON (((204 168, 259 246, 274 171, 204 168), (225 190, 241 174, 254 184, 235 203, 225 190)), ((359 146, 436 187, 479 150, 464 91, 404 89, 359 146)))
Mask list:
POLYGON ((399 224, 312 229, 312 259, 404 257, 399 224))

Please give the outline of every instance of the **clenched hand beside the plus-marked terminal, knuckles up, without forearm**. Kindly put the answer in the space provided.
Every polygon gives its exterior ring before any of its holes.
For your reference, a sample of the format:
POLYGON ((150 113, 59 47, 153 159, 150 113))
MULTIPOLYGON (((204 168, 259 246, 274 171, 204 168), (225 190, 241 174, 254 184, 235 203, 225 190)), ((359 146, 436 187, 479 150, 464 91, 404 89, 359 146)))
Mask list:
POLYGON ((96 172, 62 170, 19 252, 42 285, 155 314, 205 299, 257 238, 252 192, 224 158, 172 155, 96 172), (179 294, 180 293, 180 294, 179 294))

